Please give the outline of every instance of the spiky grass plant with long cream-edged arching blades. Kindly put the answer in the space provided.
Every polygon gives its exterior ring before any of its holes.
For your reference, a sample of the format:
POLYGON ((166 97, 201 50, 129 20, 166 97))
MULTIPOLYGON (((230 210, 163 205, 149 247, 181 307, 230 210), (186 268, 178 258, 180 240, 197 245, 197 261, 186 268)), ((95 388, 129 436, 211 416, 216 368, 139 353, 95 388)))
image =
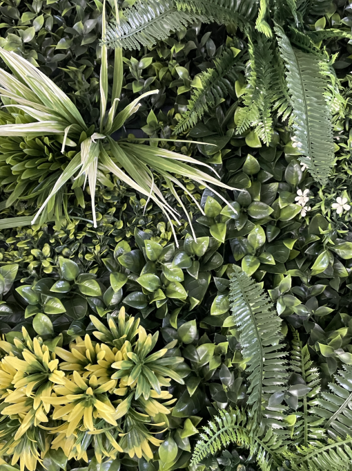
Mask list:
MULTIPOLYGON (((105 35, 106 13, 104 3, 103 37, 105 35)), ((204 187, 209 188, 209 185, 212 184, 231 189, 231 187, 220 183, 217 178, 194 167, 195 165, 204 165, 211 169, 210 166, 200 163, 194 158, 159 147, 150 147, 139 143, 135 139, 133 142, 129 142, 128 139, 121 139, 117 142, 112 138, 112 134, 123 127, 126 120, 139 109, 139 102, 149 95, 157 93, 157 90, 148 91, 117 113, 123 77, 121 48, 117 47, 115 49, 113 89, 110 96, 111 107, 109 110, 107 109, 109 97, 106 44, 101 48, 99 129, 88 128, 81 113, 79 113, 79 109, 72 103, 70 98, 26 59, 4 49, 0 49, 0 57, 13 74, 10 75, 3 69, 0 70, 0 97, 8 109, 10 120, 10 124, 0 125, 0 136, 12 139, 57 136, 57 140, 62 142, 61 153, 64 153, 68 144, 75 146, 74 151, 64 159, 66 161, 62 163, 59 174, 52 178, 49 183, 46 182, 45 192, 41 193, 45 194, 45 200, 41 202, 39 211, 32 219, 32 223, 43 223, 54 217, 54 215, 59 219, 61 214, 66 211, 63 188, 66 185, 71 185, 72 190, 75 190, 77 187, 84 187, 86 181, 88 181, 92 201, 92 218, 96 227, 95 186, 97 180, 103 185, 111 184, 106 178, 109 173, 117 176, 120 181, 146 196, 147 201, 154 201, 166 215, 172 230, 172 221, 180 224, 179 214, 175 207, 170 205, 162 195, 155 183, 153 172, 164 179, 184 212, 186 212, 186 208, 177 192, 175 192, 174 185, 180 187, 190 198, 193 198, 201 211, 202 208, 183 183, 179 181, 178 175, 191 178, 204 185, 204 187), (15 122, 11 122, 14 116, 18 118, 15 122), (189 164, 192 164, 193 167, 189 164), (61 209, 62 203, 63 212, 61 209)), ((25 158, 23 163, 20 162, 19 164, 22 167, 23 165, 26 166, 26 160, 25 158)), ((9 170, 6 170, 6 172, 9 173, 9 170)), ((12 168, 11 174, 13 177, 12 168)), ((23 178, 23 174, 21 174, 21 178, 23 178)), ((17 189, 17 194, 23 188, 21 178, 17 180, 19 187, 16 185, 14 188, 14 190, 17 189)), ((13 184, 14 181, 12 181, 13 184)), ((35 194, 39 190, 43 190, 42 187, 36 187, 35 194)), ((216 191, 213 190, 213 192, 216 191)), ((12 194, 10 203, 15 201, 15 196, 16 194, 12 194)), ((226 202, 220 194, 219 197, 226 202)), ((67 211, 65 215, 68 217, 67 211)), ((188 215, 187 212, 186 215, 188 215)), ((188 221, 192 226, 189 215, 188 221)), ((6 225, 6 222, 8 221, 1 221, 2 225, 6 225)), ((14 222, 17 225, 20 223, 20 221, 14 222)), ((1 223, 0 228, 2 227, 1 223)), ((175 235, 174 230, 173 232, 175 235)))

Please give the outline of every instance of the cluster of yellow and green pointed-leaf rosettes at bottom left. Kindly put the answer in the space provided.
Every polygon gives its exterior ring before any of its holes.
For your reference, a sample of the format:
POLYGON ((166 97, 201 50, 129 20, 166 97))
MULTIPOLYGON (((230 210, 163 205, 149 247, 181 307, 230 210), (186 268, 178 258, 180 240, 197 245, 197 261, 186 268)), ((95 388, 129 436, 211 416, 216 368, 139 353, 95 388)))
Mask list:
POLYGON ((98 341, 86 334, 63 348, 62 335, 32 340, 24 328, 0 340, 0 465, 12 455, 12 465, 35 471, 50 449, 88 462, 90 444, 98 463, 122 452, 153 458, 175 402, 166 388, 184 383, 170 367, 183 358, 167 356, 175 342, 153 353, 157 335, 124 308, 108 327, 90 319, 98 341))

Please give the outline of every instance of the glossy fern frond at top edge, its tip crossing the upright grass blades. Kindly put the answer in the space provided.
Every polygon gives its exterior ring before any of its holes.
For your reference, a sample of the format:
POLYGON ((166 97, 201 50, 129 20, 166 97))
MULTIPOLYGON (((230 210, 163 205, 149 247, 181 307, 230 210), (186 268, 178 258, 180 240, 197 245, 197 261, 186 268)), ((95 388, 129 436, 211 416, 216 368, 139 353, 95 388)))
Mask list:
POLYGON ((110 24, 102 42, 108 47, 139 49, 153 46, 159 39, 182 30, 195 21, 209 22, 205 16, 178 11, 173 0, 139 0, 122 10, 119 24, 110 24))

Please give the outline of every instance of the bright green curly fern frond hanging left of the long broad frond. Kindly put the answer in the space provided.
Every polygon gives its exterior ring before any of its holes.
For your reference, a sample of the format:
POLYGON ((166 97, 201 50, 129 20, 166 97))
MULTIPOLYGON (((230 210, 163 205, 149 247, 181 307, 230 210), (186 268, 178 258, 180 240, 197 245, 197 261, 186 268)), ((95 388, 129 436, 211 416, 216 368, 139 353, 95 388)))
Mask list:
POLYGON ((253 44, 248 35, 248 85, 243 95, 244 108, 239 111, 237 133, 243 133, 248 127, 254 127, 257 136, 265 145, 271 140, 273 120, 273 80, 274 66, 271 41, 257 37, 253 44))

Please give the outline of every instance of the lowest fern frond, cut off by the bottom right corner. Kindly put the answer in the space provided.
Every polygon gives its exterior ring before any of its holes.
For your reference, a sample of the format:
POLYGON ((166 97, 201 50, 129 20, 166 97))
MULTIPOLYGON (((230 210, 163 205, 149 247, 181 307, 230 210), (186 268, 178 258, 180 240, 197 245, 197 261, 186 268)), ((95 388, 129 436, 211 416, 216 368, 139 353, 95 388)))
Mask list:
POLYGON ((295 453, 288 455, 293 471, 349 471, 352 460, 352 438, 328 443, 317 443, 306 447, 297 447, 295 453))

